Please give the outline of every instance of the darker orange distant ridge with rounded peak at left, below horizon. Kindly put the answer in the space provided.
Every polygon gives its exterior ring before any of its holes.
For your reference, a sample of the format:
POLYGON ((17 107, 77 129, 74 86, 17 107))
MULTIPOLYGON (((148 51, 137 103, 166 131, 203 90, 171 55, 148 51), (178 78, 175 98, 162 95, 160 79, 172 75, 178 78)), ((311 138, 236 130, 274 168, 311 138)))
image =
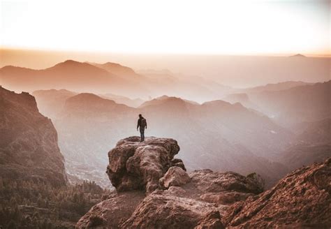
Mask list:
POLYGON ((93 91, 94 93, 108 91, 123 93, 125 91, 126 94, 131 95, 146 91, 144 88, 136 87, 134 82, 121 75, 72 60, 42 70, 5 66, 0 68, 0 80, 3 86, 17 91, 65 88, 71 91, 93 91))

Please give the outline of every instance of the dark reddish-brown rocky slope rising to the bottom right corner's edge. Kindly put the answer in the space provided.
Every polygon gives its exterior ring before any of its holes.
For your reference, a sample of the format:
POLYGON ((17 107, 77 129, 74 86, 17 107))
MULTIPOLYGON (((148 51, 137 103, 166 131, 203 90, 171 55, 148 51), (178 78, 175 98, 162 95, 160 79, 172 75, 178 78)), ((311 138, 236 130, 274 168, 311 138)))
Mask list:
POLYGON ((302 167, 258 198, 235 203, 223 216, 229 228, 330 228, 331 158, 302 167))

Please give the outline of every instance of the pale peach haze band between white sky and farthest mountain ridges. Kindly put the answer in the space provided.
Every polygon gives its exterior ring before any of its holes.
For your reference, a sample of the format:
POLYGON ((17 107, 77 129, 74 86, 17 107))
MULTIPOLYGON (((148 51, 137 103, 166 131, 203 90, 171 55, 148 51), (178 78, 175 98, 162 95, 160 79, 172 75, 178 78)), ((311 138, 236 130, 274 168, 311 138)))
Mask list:
MULTIPOLYGON (((0 52, 0 67, 19 66, 45 69, 68 59, 98 64, 112 62, 133 68, 137 73, 146 70, 166 70, 179 78, 197 79, 201 77, 205 80, 212 80, 235 88, 257 87, 286 81, 324 82, 330 80, 329 57, 271 57, 221 54, 138 55, 41 50, 0 50, 0 52)), ((66 88, 64 87, 64 89, 66 88)))

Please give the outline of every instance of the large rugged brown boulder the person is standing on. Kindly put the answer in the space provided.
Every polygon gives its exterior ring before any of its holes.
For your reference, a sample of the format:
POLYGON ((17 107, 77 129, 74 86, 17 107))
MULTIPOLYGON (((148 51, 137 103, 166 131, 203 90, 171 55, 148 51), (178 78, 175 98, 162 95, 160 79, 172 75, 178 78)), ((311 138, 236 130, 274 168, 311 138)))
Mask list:
POLYGON ((159 188, 159 179, 170 168, 179 152, 177 141, 170 138, 125 138, 108 153, 107 174, 117 191, 142 189, 151 193, 159 188))

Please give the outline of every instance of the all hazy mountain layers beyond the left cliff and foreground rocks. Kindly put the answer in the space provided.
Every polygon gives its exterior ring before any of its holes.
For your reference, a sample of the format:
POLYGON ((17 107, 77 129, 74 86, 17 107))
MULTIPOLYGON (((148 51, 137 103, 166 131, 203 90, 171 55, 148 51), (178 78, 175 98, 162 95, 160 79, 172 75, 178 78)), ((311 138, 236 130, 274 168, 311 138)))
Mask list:
POLYGON ((17 89, 43 89, 33 95, 57 129, 70 179, 108 186, 104 154, 119 138, 136 133, 138 114, 148 120, 147 135, 178 140, 189 170, 259 172, 271 185, 307 163, 288 163, 289 154, 317 147, 321 153, 309 162, 330 154, 328 142, 318 142, 325 134, 311 137, 320 133, 319 121, 330 119, 330 81, 233 89, 194 75, 78 61, 43 70, 6 66, 0 80, 17 89))

